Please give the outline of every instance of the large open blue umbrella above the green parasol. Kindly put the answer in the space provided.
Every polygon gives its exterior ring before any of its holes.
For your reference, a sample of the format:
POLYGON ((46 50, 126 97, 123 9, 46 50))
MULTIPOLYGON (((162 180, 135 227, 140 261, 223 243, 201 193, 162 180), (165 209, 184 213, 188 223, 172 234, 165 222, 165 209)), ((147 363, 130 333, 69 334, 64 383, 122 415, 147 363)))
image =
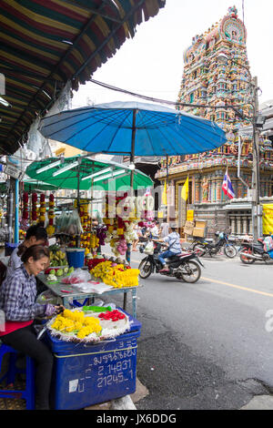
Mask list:
POLYGON ((90 152, 134 156, 201 153, 222 146, 214 122, 147 103, 114 102, 66 110, 42 119, 47 138, 90 152))

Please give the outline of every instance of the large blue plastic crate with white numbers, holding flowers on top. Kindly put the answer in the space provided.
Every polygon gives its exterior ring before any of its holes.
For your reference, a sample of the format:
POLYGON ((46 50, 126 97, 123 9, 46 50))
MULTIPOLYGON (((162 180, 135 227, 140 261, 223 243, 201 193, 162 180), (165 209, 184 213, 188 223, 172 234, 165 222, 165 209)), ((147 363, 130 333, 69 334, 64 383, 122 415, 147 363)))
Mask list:
POLYGON ((130 331, 97 344, 60 341, 47 333, 55 355, 53 406, 76 410, 136 392, 136 348, 141 323, 130 331))

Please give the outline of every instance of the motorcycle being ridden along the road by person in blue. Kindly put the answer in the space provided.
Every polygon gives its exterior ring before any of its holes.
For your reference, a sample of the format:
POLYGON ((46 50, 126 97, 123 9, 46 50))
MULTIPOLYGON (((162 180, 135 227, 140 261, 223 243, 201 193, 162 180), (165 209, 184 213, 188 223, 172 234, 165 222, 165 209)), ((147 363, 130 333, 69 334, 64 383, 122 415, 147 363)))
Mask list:
MULTIPOLYGON (((162 269, 162 264, 158 260, 158 255, 162 246, 160 242, 154 243, 154 250, 148 254, 147 257, 141 260, 138 269, 140 270, 139 276, 146 280, 151 273, 155 271, 158 273, 162 269)), ((204 267, 201 260, 199 260, 195 252, 187 252, 184 254, 176 254, 166 259, 168 271, 159 272, 160 275, 167 277, 175 277, 177 280, 184 280, 185 282, 194 283, 200 278, 201 268, 204 267)))

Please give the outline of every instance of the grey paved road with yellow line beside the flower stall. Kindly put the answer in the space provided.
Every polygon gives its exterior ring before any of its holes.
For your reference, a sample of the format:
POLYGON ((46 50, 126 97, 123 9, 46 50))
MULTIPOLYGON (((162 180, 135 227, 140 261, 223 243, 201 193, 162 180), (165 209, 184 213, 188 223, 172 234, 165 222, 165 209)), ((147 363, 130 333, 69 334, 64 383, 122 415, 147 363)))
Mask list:
POLYGON ((142 280, 137 377, 149 395, 137 409, 238 409, 273 390, 273 264, 204 263, 196 284, 142 280))

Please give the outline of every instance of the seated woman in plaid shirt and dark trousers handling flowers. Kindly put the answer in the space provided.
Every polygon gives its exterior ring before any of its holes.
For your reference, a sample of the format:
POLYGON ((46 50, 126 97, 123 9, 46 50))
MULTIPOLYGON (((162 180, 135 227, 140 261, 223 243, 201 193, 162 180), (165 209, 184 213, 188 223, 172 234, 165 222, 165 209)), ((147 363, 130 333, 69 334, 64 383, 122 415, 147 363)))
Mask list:
POLYGON ((49 409, 49 388, 53 355, 38 341, 33 327, 36 317, 51 316, 60 307, 35 303, 35 276, 48 264, 49 250, 35 245, 25 250, 23 264, 9 275, 0 287, 0 310, 5 312, 5 328, 0 339, 18 352, 35 360, 35 408, 49 409))

